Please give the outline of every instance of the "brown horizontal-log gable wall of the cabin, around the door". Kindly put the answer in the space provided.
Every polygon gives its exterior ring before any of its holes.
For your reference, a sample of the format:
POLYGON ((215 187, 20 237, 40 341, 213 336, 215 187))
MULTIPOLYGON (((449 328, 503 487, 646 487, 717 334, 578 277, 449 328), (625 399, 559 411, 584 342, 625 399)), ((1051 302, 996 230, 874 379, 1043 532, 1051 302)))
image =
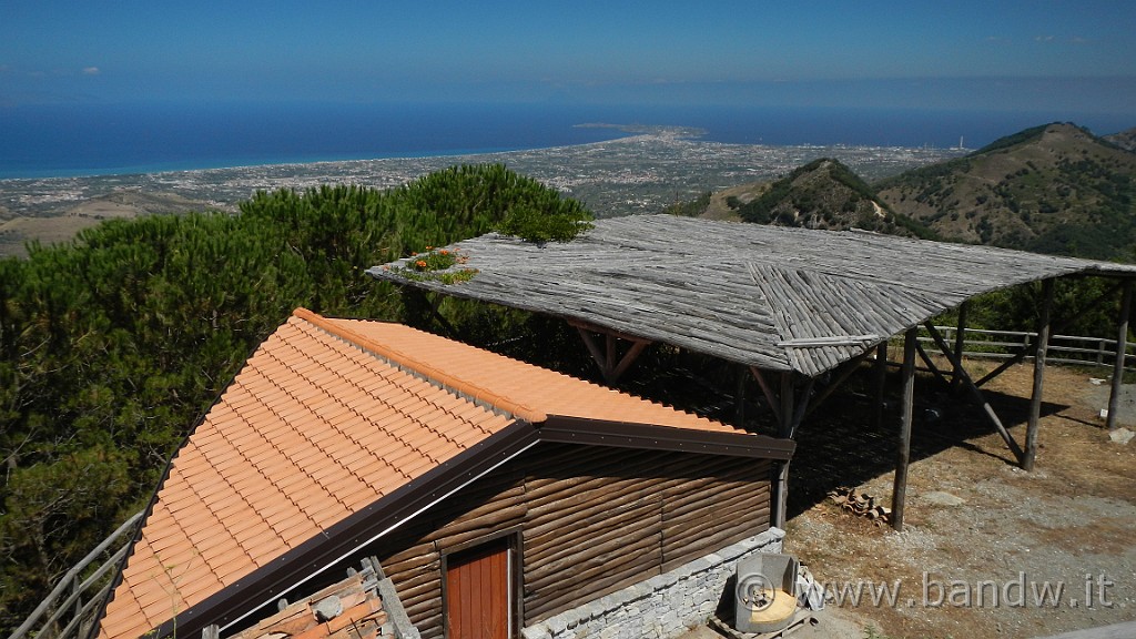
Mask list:
POLYGON ((765 459, 538 445, 368 550, 424 638, 442 637, 443 556, 518 540, 521 625, 769 528, 765 459))

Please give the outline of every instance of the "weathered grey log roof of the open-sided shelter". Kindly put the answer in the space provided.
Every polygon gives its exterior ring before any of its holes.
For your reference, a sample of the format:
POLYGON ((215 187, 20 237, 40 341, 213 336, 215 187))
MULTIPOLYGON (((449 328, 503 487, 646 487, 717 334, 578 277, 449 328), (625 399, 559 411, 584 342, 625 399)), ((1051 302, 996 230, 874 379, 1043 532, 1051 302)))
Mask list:
POLYGON ((601 219, 567 243, 491 233, 449 248, 478 271, 468 282, 407 277, 410 258, 368 273, 809 376, 980 293, 1136 276, 1103 262, 669 215, 601 219))

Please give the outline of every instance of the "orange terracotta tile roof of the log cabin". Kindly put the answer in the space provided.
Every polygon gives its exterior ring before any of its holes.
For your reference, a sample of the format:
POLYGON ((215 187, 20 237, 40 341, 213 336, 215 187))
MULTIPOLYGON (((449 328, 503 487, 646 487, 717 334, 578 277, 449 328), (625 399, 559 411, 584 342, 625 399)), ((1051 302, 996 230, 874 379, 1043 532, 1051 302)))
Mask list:
POLYGON ((550 415, 628 423, 601 438, 651 424, 767 439, 399 324, 298 309, 174 457, 100 636, 133 639, 248 588, 510 425, 553 432, 550 415))

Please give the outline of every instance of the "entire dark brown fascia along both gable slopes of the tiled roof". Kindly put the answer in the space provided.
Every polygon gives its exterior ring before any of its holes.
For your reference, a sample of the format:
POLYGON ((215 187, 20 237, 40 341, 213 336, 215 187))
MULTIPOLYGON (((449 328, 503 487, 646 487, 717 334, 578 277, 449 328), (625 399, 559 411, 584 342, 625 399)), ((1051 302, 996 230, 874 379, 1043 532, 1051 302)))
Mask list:
POLYGON ((344 558, 356 549, 452 491, 477 479, 500 463, 536 443, 579 443, 646 450, 701 453, 732 457, 787 460, 796 442, 749 433, 695 431, 670 426, 549 416, 534 425, 516 421, 471 446, 423 476, 403 484, 374 504, 356 512, 321 534, 257 569, 244 579, 179 613, 147 633, 147 638, 172 637, 175 631, 197 637, 208 625, 225 626, 270 604, 292 587, 344 558))

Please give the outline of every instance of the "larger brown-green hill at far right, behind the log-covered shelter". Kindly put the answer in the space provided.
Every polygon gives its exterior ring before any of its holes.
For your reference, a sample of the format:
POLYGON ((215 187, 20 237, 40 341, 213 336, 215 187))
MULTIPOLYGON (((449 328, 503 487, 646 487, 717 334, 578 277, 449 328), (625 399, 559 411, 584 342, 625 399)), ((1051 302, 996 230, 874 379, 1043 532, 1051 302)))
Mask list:
POLYGON ((875 186, 944 240, 1133 258, 1136 153, 1072 124, 1028 128, 875 186))

